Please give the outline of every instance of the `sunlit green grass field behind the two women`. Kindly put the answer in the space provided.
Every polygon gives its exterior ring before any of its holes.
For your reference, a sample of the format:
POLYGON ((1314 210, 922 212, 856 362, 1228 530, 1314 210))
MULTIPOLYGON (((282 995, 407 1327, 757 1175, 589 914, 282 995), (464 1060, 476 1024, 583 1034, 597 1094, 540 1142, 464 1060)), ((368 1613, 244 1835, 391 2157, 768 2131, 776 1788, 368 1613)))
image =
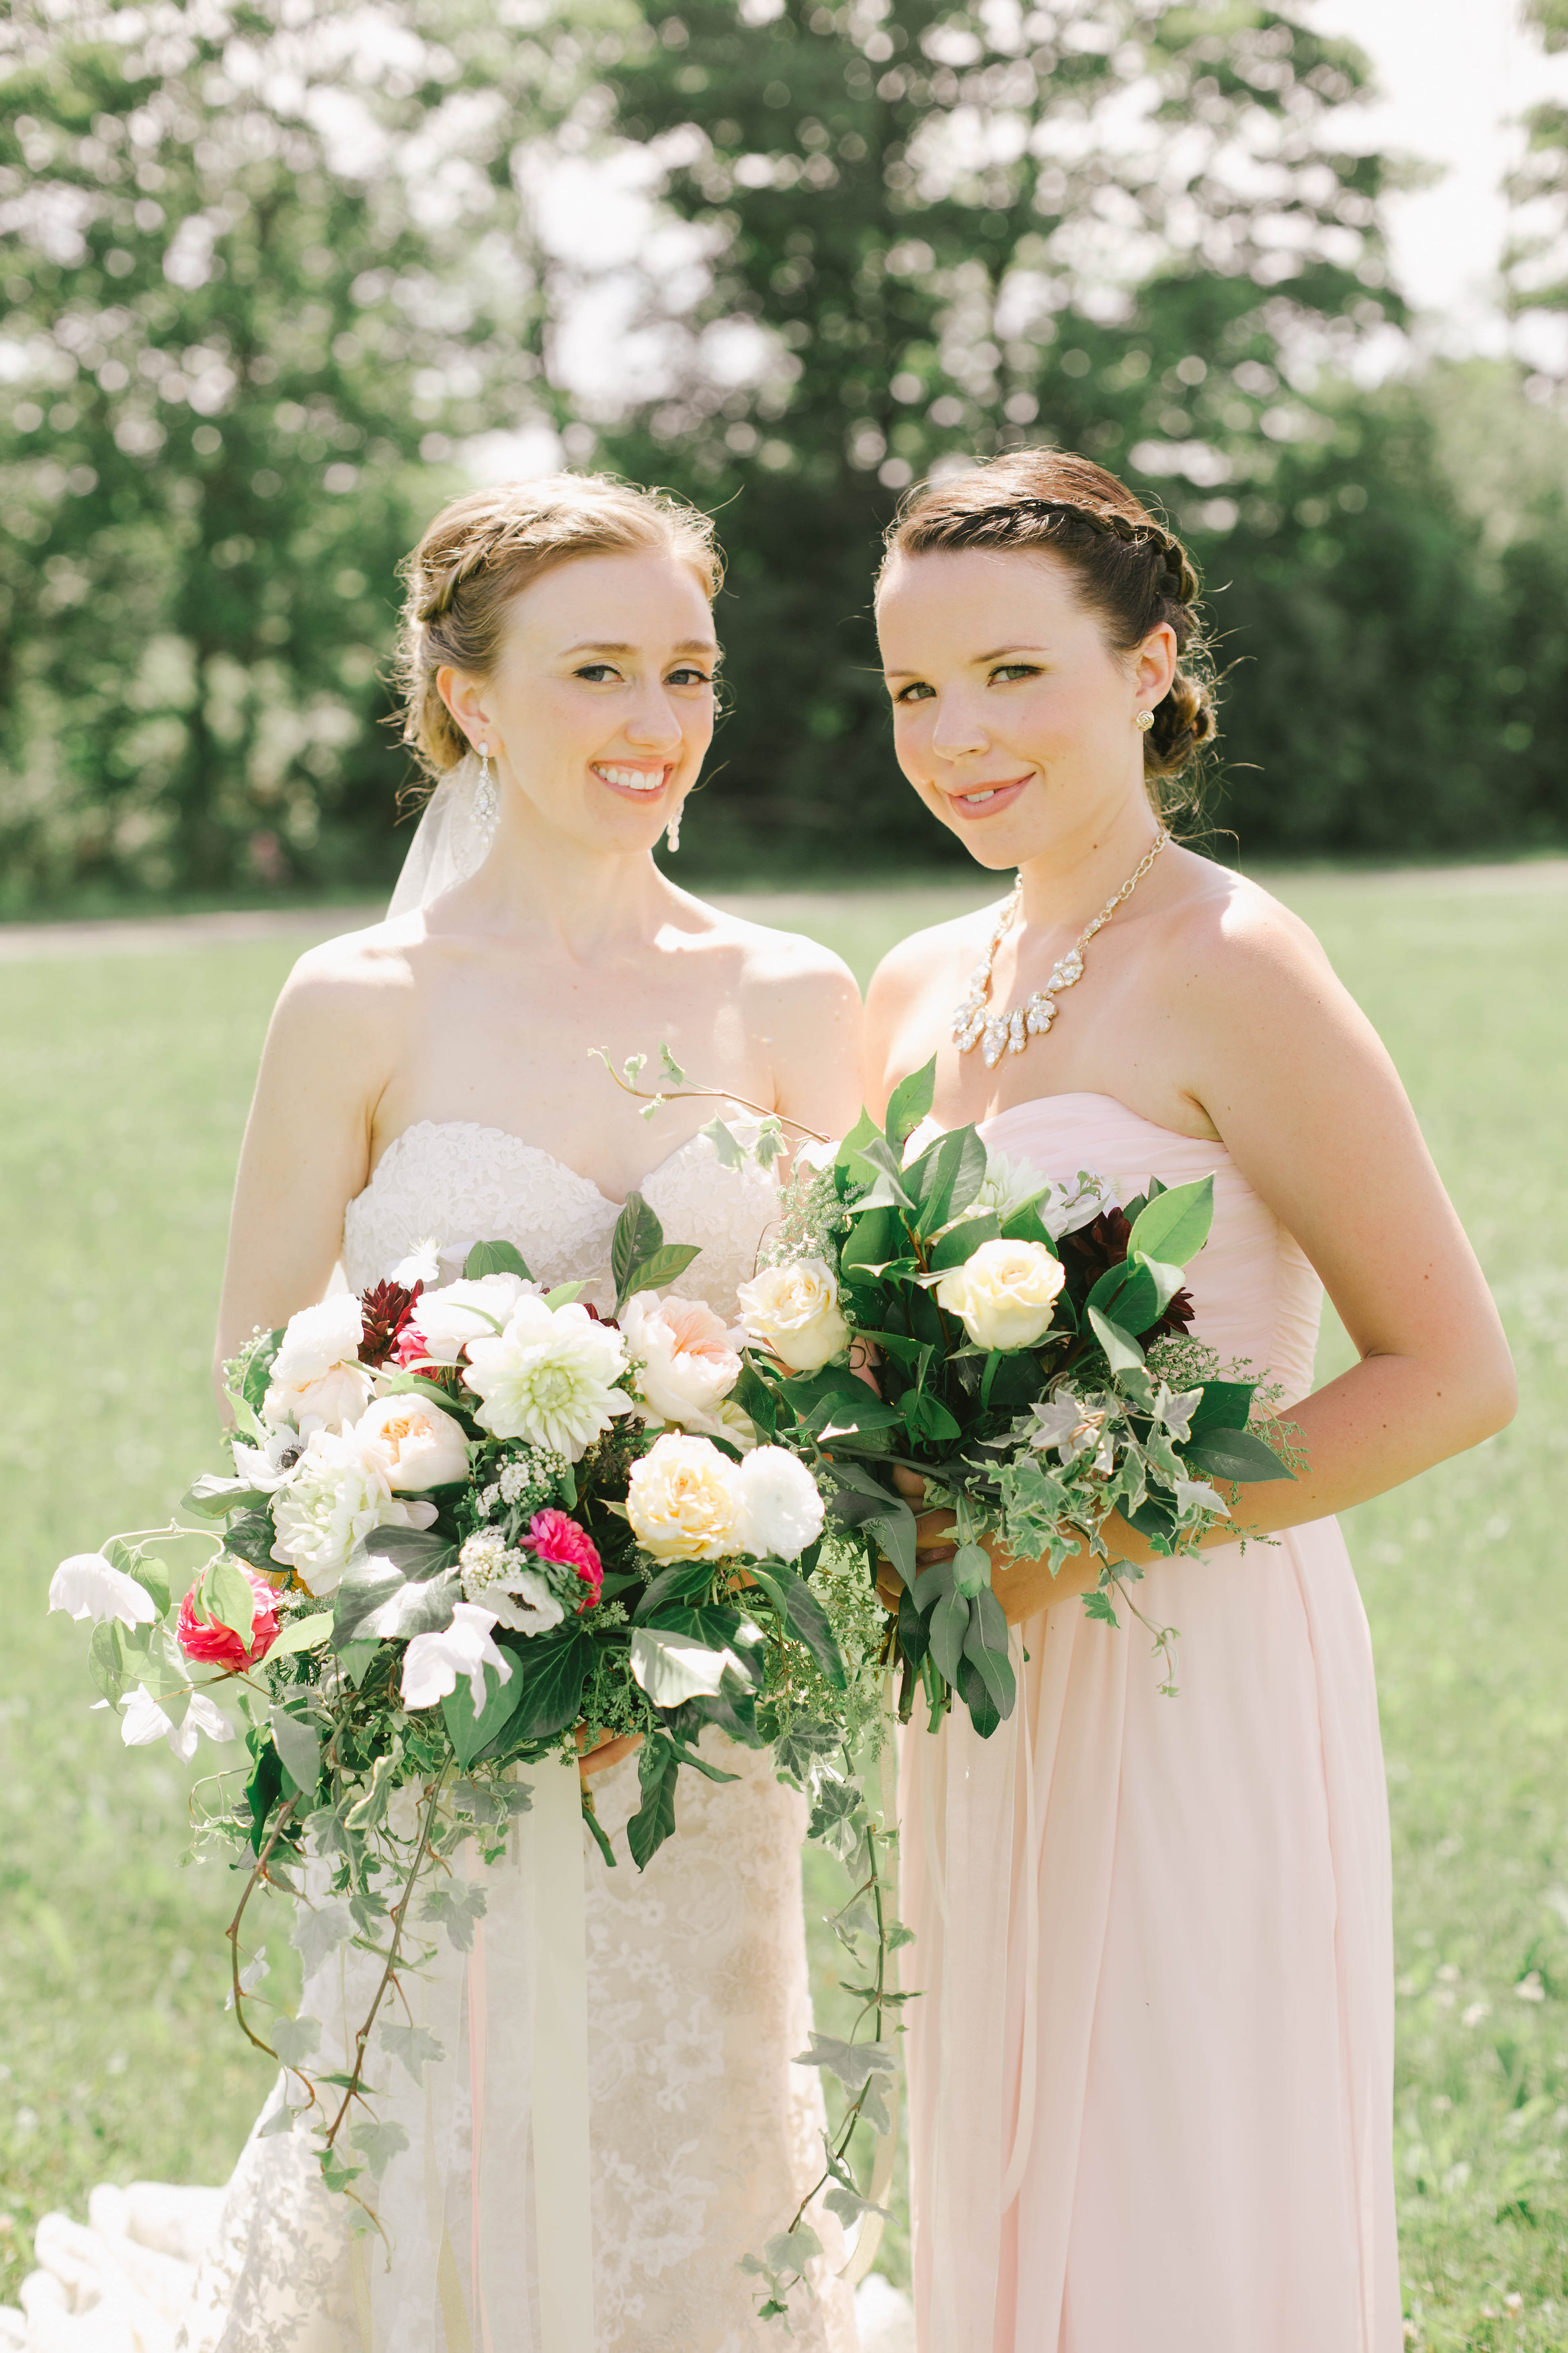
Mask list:
MULTIPOLYGON (((1512 1431, 1349 1522, 1394 1807, 1408 2337, 1568 2348, 1568 885, 1519 868, 1281 894, 1394 1049, 1523 1381, 1512 1431)), ((978 896, 757 911, 867 972, 978 896)), ((230 1880, 176 1868, 188 1777, 89 1713, 82 1628, 45 1617, 45 1586, 61 1553, 162 1520, 214 1457, 228 1186, 296 946, 0 962, 21 1315, 0 1355, 0 2301, 38 2214, 80 2214, 99 2179, 219 2181, 266 2089, 223 2014, 230 1880)), ((1342 1348, 1328 1329, 1326 1369, 1342 1348)))

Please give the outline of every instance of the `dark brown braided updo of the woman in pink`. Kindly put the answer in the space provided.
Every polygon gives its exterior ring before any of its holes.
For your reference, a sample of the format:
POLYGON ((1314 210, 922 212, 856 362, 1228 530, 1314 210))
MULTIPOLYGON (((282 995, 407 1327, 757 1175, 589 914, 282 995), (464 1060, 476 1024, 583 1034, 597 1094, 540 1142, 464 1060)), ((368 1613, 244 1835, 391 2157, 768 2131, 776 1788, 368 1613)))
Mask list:
POLYGON ((1126 482, 1070 449, 1009 449, 971 473, 919 482, 886 534, 886 562, 931 548, 1016 548, 1056 555, 1084 605, 1131 654, 1161 621, 1182 666, 1154 706, 1143 772, 1161 819, 1194 795, 1197 755, 1215 732, 1213 673, 1197 612, 1199 579, 1180 539, 1157 522, 1126 482))

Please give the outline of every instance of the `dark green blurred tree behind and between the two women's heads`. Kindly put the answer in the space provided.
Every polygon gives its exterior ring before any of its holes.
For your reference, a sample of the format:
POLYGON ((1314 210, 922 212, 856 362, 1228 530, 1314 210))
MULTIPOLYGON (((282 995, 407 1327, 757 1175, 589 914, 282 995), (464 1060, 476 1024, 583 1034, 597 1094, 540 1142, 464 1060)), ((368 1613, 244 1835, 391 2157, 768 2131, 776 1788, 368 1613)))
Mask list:
MULTIPOLYGON (((736 715, 689 838, 959 854, 886 748, 877 539, 933 464, 1048 438, 1234 520, 1300 386, 1401 318, 1342 146, 1361 52, 1251 0, 684 0, 607 71, 710 254, 604 454, 722 508, 736 715), (736 381, 736 365, 748 374, 736 381)), ((649 289, 658 311, 658 289, 649 289)))

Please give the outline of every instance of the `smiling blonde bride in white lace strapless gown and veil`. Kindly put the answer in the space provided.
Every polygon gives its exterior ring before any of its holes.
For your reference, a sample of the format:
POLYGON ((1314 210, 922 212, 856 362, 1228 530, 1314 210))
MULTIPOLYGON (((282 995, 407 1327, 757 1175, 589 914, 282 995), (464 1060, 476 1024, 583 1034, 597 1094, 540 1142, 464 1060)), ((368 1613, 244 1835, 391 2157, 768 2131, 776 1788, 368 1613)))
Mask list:
MULTIPOLYGON (((632 1188, 670 1240, 701 1245, 675 1287, 733 1320, 771 1181, 719 1162, 698 1134, 712 1104, 644 1120, 590 1059, 607 1047, 618 1066, 665 1040, 705 1085, 818 1132, 842 1134, 856 1111, 849 972, 675 889, 651 856, 665 831, 677 845, 712 736, 712 532, 663 494, 559 475, 458 499, 407 576, 404 732, 435 800, 390 918, 313 948, 280 998, 219 1355, 320 1299, 336 1264, 360 1289, 430 1242, 461 1261, 475 1240, 510 1240, 609 1311, 609 1235, 632 1188)), ((628 1746, 583 1760, 621 1847, 616 1871, 585 1859, 592 2348, 738 2353, 766 2341, 738 2259, 783 2228, 818 2169, 816 2075, 792 2066, 809 2040, 804 1802, 766 1758, 726 1746, 741 1779, 693 1791, 686 1777, 679 1833, 639 1875, 618 1838, 637 1809, 628 1746)), ((512 1835, 527 1842, 529 1817, 512 1835)), ((421 1995, 447 2057, 390 2094, 411 2139, 381 2193, 390 2245, 350 2235, 353 2209, 320 2188, 303 2132, 266 2132, 280 2082, 160 2344, 590 2353, 541 2311, 541 2141, 515 2024, 527 1889, 512 1857, 468 1868, 489 1897, 477 1967, 442 1948, 421 1995)), ((341 1955, 308 1979, 324 2042, 357 2019, 353 1995, 341 1955)), ((158 2193, 129 2195, 129 2217, 108 2219, 169 2249, 158 2193)), ((63 2322, 19 2341, 75 2346, 54 2334, 63 2322)), ((94 2353, 115 2344, 96 2322, 80 2339, 94 2353)), ((143 2353, 132 2327, 120 2341, 143 2353)), ((797 2341, 849 2353, 849 2289, 827 2287, 797 2341)))

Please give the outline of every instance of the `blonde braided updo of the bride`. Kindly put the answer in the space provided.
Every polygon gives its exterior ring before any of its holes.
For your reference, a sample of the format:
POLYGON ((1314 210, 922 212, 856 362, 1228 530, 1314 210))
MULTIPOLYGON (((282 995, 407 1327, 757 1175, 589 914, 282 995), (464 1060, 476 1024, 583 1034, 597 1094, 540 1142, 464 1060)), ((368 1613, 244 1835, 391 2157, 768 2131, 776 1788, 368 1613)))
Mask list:
POLYGON ((444 776, 468 753, 435 673, 451 664, 489 678, 508 602, 574 555, 675 555, 691 565, 708 602, 724 579, 712 522, 668 489, 637 489, 604 473, 552 473, 454 499, 400 565, 402 739, 428 776, 444 776))

